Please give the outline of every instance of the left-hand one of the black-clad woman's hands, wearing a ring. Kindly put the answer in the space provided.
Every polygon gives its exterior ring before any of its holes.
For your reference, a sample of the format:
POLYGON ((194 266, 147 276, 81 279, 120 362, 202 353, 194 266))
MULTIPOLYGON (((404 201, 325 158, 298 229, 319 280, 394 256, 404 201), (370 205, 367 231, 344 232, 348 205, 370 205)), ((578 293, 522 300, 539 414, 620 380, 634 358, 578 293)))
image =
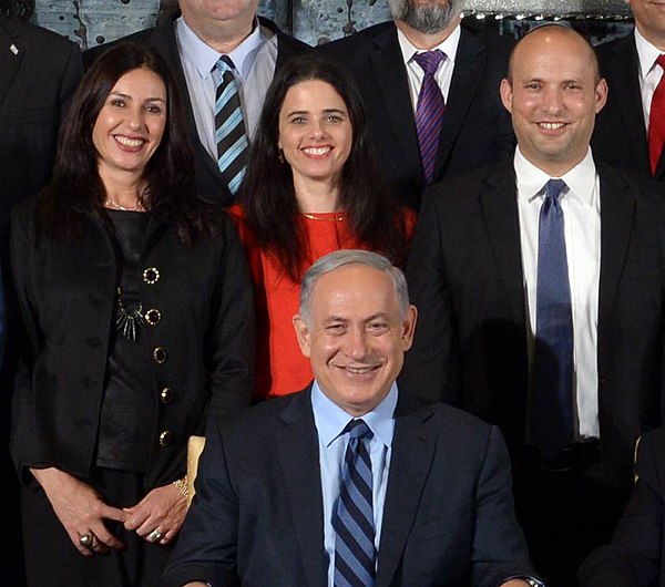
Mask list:
POLYGON ((124 543, 106 528, 104 521, 124 523, 127 517, 125 512, 104 503, 95 490, 69 473, 54 467, 30 471, 43 487, 72 544, 82 555, 92 558, 95 553, 124 547, 124 543), (83 536, 89 538, 83 538, 82 543, 83 536))

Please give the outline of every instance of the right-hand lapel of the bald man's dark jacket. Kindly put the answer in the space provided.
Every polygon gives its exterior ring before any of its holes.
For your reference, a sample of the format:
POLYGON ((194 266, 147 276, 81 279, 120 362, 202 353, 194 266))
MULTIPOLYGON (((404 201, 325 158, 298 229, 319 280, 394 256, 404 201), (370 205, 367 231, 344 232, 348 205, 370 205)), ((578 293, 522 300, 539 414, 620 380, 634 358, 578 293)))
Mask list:
MULTIPOLYGON (((631 241, 635 198, 628 184, 602 163, 601 178, 601 284, 598 309, 611 307, 631 241)), ((604 323, 598 315, 598 323, 604 323)))

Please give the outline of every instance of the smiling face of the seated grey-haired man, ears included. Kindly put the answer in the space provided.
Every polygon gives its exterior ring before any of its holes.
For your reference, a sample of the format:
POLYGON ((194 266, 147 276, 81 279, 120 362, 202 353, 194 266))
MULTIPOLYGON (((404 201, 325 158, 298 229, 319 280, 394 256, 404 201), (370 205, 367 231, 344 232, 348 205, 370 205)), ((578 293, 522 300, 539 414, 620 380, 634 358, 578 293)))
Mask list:
POLYGON ((310 323, 294 326, 321 391, 360 416, 374 410, 399 374, 411 347, 416 308, 402 316, 390 277, 365 265, 321 275, 309 300, 310 323))

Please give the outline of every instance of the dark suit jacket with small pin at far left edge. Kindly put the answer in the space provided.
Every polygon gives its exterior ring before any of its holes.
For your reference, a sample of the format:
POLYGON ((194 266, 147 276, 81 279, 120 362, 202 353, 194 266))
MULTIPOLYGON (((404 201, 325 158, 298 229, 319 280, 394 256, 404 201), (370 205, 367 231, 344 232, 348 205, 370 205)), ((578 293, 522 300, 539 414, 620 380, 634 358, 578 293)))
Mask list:
POLYGON ((0 13, 0 230, 51 178, 60 122, 83 74, 79 45, 0 13), (16 48, 12 50, 11 48, 16 48))

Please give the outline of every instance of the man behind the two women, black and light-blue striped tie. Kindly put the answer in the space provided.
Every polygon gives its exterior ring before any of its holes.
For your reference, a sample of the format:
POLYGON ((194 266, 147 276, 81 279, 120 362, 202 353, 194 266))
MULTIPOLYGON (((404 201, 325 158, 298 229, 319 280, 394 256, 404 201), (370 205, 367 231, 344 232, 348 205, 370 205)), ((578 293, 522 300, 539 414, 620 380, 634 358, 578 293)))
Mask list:
MULTIPOLYGON (((202 196, 235 202, 263 103, 276 68, 311 49, 258 17, 258 0, 180 0, 168 22, 115 41, 147 43, 166 60, 187 106, 202 196)), ((86 64, 108 45, 84 53, 86 64)))

